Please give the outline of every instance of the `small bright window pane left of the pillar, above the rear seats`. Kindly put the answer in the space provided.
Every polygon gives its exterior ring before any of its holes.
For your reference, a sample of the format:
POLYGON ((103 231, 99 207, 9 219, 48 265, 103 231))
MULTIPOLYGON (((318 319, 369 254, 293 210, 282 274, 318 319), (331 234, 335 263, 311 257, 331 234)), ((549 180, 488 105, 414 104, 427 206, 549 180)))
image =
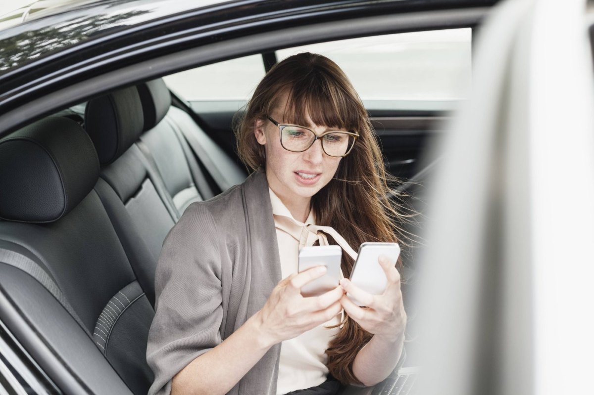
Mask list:
POLYGON ((245 56, 164 77, 185 100, 249 100, 264 77, 261 55, 245 56))

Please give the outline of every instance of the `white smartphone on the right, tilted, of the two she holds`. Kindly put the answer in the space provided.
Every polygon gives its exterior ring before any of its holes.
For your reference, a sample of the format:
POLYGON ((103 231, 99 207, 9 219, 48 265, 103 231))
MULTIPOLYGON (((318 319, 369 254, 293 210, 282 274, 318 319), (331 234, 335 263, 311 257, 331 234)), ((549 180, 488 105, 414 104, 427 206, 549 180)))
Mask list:
MULTIPOLYGON (((396 265, 400 255, 398 243, 363 243, 359 247, 359 254, 350 274, 350 282, 369 294, 380 295, 386 290, 387 278, 378 259, 385 255, 391 265, 396 265)), ((361 306, 361 302, 350 294, 346 294, 354 303, 361 306)))

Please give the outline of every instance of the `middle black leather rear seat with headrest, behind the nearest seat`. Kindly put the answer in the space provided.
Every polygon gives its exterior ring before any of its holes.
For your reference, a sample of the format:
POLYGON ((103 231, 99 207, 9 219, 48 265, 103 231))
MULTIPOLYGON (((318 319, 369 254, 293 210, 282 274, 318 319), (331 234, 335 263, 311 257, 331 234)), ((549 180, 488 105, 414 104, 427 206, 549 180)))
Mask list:
POLYGON ((159 173, 135 144, 143 123, 140 97, 134 87, 87 104, 86 129, 102 167, 96 191, 154 305, 154 270, 163 240, 179 212, 159 173))

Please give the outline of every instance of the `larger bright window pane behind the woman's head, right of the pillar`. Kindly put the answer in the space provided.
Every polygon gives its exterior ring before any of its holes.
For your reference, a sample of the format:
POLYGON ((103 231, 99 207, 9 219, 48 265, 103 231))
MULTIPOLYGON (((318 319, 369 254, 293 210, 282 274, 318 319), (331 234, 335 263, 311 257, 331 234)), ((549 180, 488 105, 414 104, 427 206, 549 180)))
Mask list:
POLYGON ((363 100, 459 100, 470 95, 470 28, 387 34, 276 52, 320 53, 345 71, 363 100))

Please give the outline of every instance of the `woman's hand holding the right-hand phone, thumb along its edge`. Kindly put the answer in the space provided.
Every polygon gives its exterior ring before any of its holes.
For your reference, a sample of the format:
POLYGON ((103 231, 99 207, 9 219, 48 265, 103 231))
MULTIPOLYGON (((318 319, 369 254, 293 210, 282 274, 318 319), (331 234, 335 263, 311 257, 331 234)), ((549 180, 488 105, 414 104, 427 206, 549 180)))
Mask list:
POLYGON ((359 307, 345 294, 340 299, 345 312, 363 329, 388 342, 402 338, 406 328, 406 312, 400 291, 400 273, 386 256, 380 256, 380 266, 387 277, 386 290, 381 295, 372 295, 354 285, 348 279, 340 280, 346 292, 353 295, 365 307, 359 307))

